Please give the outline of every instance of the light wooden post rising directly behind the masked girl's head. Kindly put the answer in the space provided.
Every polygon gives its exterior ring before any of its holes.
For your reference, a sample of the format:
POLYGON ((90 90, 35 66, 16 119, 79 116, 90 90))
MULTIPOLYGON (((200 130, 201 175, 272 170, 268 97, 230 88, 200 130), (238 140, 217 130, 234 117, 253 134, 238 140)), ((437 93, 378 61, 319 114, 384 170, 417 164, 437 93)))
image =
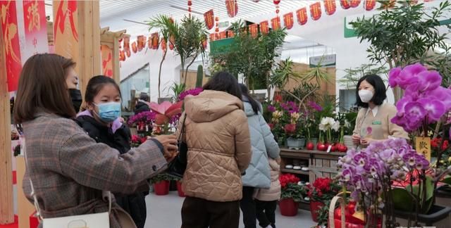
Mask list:
POLYGON ((78 1, 80 90, 85 94, 91 77, 101 74, 99 1, 78 1))

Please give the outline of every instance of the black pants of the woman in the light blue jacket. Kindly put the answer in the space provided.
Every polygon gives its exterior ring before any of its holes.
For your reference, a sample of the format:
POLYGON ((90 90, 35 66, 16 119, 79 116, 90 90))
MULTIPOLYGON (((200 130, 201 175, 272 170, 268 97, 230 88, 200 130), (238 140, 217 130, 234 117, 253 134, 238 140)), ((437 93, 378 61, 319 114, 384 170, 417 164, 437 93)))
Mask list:
POLYGON ((242 187, 242 199, 240 207, 242 211, 242 221, 245 223, 245 228, 257 228, 257 214, 254 201, 254 187, 242 187))

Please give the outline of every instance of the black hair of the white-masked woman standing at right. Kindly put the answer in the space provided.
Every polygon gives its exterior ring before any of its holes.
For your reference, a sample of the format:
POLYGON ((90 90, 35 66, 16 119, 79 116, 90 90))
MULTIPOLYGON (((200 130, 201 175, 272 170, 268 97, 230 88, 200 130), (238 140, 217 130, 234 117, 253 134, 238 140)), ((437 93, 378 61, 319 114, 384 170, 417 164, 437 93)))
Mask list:
POLYGON ((387 99, 387 94, 385 94, 385 84, 383 80, 378 75, 365 75, 362 77, 359 82, 357 82, 357 88, 355 92, 355 96, 357 98, 357 106, 368 108, 368 103, 363 103, 359 96, 359 87, 360 84, 366 81, 374 87, 374 95, 371 101, 376 105, 380 106, 385 99, 387 99))

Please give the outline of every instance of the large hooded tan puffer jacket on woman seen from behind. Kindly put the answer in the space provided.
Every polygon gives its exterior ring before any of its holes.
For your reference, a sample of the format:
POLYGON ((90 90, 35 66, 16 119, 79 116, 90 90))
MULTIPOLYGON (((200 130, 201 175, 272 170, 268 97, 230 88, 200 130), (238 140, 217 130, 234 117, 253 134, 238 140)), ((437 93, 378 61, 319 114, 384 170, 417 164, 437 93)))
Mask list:
POLYGON ((188 153, 183 190, 187 196, 217 202, 242 198, 241 174, 252 156, 242 109, 240 99, 221 91, 206 90, 185 98, 188 153))

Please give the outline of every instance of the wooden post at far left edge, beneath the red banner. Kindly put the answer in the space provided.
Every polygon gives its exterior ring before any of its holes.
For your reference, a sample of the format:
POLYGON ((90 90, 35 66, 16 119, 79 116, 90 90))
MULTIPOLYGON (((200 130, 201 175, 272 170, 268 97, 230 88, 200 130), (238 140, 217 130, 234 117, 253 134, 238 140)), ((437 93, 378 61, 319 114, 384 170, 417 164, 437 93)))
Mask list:
POLYGON ((13 165, 11 157, 11 110, 6 78, 6 59, 0 23, 0 224, 14 222, 13 165))

